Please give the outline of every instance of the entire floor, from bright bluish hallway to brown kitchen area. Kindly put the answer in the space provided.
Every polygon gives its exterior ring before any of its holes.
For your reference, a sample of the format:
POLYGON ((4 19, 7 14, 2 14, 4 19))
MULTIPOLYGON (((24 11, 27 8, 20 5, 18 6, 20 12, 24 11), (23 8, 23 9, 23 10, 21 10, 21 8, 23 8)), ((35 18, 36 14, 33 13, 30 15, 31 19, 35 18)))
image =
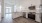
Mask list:
POLYGON ((16 19, 12 20, 11 15, 6 15, 2 19, 1 23, 37 23, 37 22, 35 22, 35 21, 31 20, 31 19, 23 18, 23 17, 19 17, 19 18, 16 18, 16 19))

